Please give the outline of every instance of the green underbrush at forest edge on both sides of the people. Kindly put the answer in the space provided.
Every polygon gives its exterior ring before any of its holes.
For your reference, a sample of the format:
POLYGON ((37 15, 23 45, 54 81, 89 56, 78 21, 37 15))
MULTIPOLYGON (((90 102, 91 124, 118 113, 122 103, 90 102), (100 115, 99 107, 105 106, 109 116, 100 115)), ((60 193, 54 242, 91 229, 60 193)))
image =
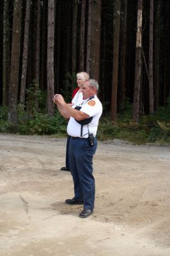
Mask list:
MULTIPOLYGON (((138 124, 132 121, 132 109, 118 115, 112 122, 109 115, 103 116, 98 125, 99 140, 120 139, 136 144, 170 143, 170 100, 166 108, 159 108, 154 115, 143 116, 138 124)), ((66 136, 67 120, 56 110, 54 116, 43 113, 27 113, 18 108, 18 124, 8 123, 8 109, 0 107, 0 132, 17 134, 54 134, 66 136)))

